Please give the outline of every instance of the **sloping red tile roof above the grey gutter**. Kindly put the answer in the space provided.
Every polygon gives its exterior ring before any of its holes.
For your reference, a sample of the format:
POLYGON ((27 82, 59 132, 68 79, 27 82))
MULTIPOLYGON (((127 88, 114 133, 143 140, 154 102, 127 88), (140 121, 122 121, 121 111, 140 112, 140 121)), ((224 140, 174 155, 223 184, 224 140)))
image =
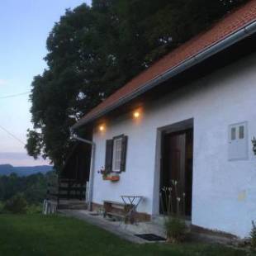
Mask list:
POLYGON ((206 50, 211 45, 215 45, 221 40, 224 40, 226 37, 239 31, 244 26, 248 26, 255 20, 256 0, 252 0, 235 12, 231 12, 222 20, 217 21, 208 31, 192 38, 192 40, 188 40, 185 44, 179 46, 168 55, 165 55, 164 58, 159 59, 159 61, 150 66, 149 69, 146 69, 144 72, 131 79, 125 86, 111 94, 110 97, 107 97, 105 101, 93 108, 92 111, 89 111, 75 126, 81 126, 91 121, 95 116, 100 115, 102 111, 112 107, 121 98, 129 96, 130 93, 135 92, 135 90, 145 85, 145 83, 148 83, 154 78, 158 78, 168 69, 178 66, 178 64, 183 63, 184 60, 192 58, 192 56, 206 50))

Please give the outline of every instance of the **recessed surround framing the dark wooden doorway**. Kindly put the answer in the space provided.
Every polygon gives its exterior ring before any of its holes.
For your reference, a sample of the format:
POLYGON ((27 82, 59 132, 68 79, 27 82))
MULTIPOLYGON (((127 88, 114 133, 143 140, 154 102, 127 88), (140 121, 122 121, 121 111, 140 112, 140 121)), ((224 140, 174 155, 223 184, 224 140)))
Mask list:
MULTIPOLYGON (((194 119, 189 118, 187 120, 178 121, 168 126, 162 126, 157 129, 156 134, 156 145, 155 145, 155 161, 154 161, 154 191, 153 191, 153 204, 152 204, 152 215, 159 216, 160 200, 159 200, 159 191, 160 191, 160 178, 161 178, 161 163, 162 163, 162 146, 163 146, 163 135, 164 133, 174 133, 182 130, 193 129, 193 138, 194 138, 194 119)), ((193 156, 194 156, 194 141, 193 141, 193 156)), ((194 161, 193 161, 194 163, 194 161)), ((192 166, 193 170, 193 166, 192 166)), ((192 181, 193 184, 193 181, 192 181)), ((192 186, 193 187, 193 186, 192 186)), ((193 191, 193 190, 192 190, 193 191)))

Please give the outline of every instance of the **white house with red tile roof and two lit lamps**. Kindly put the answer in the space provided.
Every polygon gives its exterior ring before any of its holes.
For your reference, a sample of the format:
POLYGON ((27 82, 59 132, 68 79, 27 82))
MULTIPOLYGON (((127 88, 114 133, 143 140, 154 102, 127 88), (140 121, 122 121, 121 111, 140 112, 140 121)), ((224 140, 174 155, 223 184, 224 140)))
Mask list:
POLYGON ((161 214, 177 180, 192 225, 239 237, 256 220, 256 1, 164 56, 73 126, 93 128, 90 200, 140 195, 161 214), (102 179, 101 168, 119 173, 102 179))

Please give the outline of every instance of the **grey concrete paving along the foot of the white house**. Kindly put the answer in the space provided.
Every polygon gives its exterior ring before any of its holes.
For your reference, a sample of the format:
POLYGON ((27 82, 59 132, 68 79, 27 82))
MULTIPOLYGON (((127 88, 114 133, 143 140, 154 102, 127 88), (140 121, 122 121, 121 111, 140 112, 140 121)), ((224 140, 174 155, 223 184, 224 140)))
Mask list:
MULTIPOLYGON (((146 243, 156 243, 158 241, 148 241, 142 239, 136 235, 142 234, 154 234, 160 237, 166 238, 164 230, 164 217, 156 216, 153 220, 149 222, 139 222, 136 224, 126 224, 124 221, 113 220, 111 218, 104 218, 101 213, 97 211, 87 211, 87 210, 59 210, 59 213, 64 214, 64 216, 71 216, 79 220, 87 221, 92 225, 97 225, 103 230, 107 230, 115 235, 118 235, 122 239, 126 239, 135 244, 146 244, 146 243)), ((240 239, 226 237, 225 234, 207 231, 198 231, 192 229, 191 222, 186 221, 187 225, 191 228, 189 233, 189 241, 193 242, 203 242, 211 244, 239 244, 243 241, 240 239)), ((163 242, 161 242, 163 243, 163 242)))

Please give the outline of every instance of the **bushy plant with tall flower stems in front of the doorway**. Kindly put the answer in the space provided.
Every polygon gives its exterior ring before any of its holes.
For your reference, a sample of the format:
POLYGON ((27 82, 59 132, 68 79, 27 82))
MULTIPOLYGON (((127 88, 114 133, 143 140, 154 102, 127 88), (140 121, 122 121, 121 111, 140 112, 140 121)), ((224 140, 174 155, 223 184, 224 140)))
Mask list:
POLYGON ((178 192, 178 182, 175 180, 172 180, 170 187, 162 187, 160 192, 160 202, 164 212, 164 228, 170 243, 183 242, 188 232, 184 220, 185 197, 184 192, 178 192))

